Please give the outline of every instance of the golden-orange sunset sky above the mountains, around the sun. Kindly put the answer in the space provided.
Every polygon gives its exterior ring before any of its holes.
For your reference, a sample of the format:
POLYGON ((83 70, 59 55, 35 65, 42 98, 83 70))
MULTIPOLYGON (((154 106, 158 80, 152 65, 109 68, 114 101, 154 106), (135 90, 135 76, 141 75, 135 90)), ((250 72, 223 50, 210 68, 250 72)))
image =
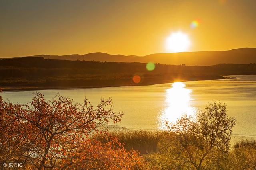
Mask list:
POLYGON ((170 52, 256 47, 255 0, 0 0, 0 57, 170 52), (194 21, 194 23, 192 23, 194 21))

